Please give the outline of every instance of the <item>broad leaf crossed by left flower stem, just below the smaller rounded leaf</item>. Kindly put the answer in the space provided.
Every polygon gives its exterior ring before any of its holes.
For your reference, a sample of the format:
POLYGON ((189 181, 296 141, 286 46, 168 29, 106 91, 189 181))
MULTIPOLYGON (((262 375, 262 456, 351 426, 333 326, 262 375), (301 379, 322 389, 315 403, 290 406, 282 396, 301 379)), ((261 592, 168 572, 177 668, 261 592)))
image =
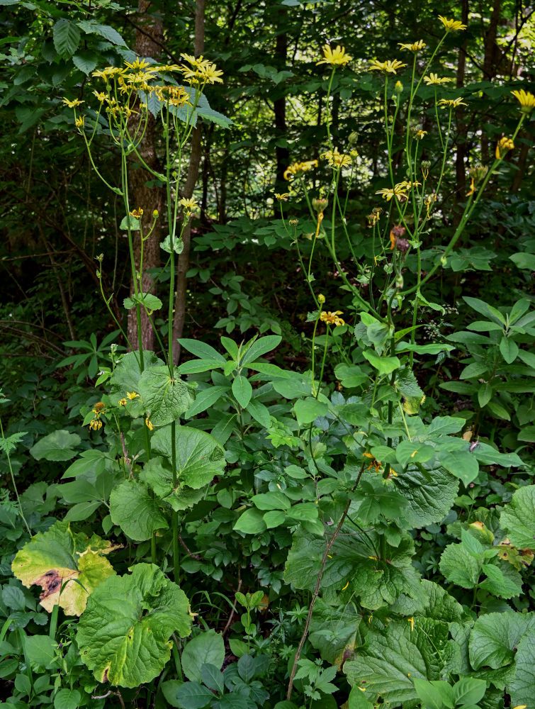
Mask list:
MULTIPOLYGON (((152 448, 171 460, 170 429, 152 436, 152 448)), ((176 474, 181 484, 195 490, 208 485, 225 469, 225 450, 209 433, 187 426, 175 428, 176 474)))

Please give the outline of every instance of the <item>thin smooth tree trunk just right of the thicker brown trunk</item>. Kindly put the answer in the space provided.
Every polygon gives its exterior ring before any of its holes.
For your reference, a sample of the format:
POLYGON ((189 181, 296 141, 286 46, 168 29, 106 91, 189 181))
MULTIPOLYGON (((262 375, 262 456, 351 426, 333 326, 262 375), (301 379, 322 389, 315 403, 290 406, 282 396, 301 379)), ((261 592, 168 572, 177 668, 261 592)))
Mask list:
MULTIPOLYGON (((200 55, 204 50, 204 16, 205 16, 205 0, 197 0, 195 11, 195 40, 193 43, 193 52, 196 56, 200 55)), ((189 160, 188 174, 186 176, 186 184, 184 185, 184 196, 189 199, 193 196, 193 189, 198 178, 199 164, 201 163, 201 128, 197 125, 191 131, 191 157, 189 160)), ((174 318, 172 323, 173 328, 173 362, 179 363, 181 347, 176 340, 182 337, 184 332, 184 322, 186 320, 186 273, 189 267, 189 249, 191 243, 191 219, 184 228, 182 234, 184 241, 184 250, 179 256, 179 265, 176 269, 176 297, 174 301, 174 318)), ((169 323, 171 325, 171 323, 169 323)))

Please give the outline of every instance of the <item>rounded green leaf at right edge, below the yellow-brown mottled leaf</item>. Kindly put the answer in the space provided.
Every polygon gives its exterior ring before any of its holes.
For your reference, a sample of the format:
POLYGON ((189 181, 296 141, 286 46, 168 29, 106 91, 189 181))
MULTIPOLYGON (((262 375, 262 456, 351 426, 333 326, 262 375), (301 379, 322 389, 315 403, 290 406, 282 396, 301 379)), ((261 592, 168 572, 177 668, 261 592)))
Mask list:
POLYGON ((514 654, 521 637, 535 630, 533 613, 487 613, 481 615, 470 634, 470 664, 473 669, 498 669, 514 662, 514 654))

